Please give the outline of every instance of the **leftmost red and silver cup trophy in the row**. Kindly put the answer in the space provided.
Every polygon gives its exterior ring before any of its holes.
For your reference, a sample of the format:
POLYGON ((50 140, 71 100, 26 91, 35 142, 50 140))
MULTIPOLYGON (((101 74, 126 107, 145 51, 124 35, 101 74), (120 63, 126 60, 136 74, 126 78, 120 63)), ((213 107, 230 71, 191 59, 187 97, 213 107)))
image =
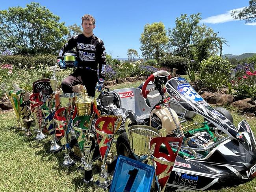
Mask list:
POLYGON ((34 93, 30 96, 29 100, 30 103, 32 103, 31 105, 31 112, 33 114, 33 118, 35 120, 35 125, 37 127, 37 136, 35 137, 35 139, 37 140, 41 140, 43 138, 46 137, 46 135, 44 135, 42 133, 42 110, 41 110, 41 106, 43 105, 43 102, 41 102, 39 100, 39 94, 40 93, 34 93))

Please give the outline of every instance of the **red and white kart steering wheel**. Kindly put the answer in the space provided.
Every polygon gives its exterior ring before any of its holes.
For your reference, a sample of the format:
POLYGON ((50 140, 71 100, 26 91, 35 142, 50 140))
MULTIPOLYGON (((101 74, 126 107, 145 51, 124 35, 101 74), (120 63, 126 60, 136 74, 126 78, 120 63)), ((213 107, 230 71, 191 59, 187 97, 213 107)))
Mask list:
POLYGON ((154 72, 152 75, 150 75, 147 80, 145 81, 143 87, 142 87, 142 95, 143 97, 146 99, 146 98, 156 98, 157 96, 160 95, 160 92, 158 92, 157 94, 154 94, 154 95, 148 95, 150 92, 152 92, 153 90, 155 90, 155 87, 153 88, 150 88, 150 89, 146 89, 147 86, 148 86, 148 83, 150 81, 152 81, 154 83, 154 79, 158 76, 168 76, 168 79, 171 79, 171 75, 169 74, 169 72, 167 71, 164 71, 164 70, 161 70, 161 71, 157 71, 157 72, 154 72))

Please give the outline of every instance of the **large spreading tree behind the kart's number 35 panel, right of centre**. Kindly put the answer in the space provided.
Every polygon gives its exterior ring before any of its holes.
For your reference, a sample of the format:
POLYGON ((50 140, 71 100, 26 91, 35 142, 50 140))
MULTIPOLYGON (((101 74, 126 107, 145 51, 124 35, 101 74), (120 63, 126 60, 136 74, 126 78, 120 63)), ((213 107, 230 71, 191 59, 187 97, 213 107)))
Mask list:
POLYGON ((207 59, 219 50, 222 55, 222 44, 226 43, 226 40, 217 37, 218 33, 214 33, 206 25, 198 25, 200 19, 200 13, 192 14, 189 17, 187 14, 182 14, 176 18, 176 26, 169 29, 170 47, 175 55, 198 61, 207 59))

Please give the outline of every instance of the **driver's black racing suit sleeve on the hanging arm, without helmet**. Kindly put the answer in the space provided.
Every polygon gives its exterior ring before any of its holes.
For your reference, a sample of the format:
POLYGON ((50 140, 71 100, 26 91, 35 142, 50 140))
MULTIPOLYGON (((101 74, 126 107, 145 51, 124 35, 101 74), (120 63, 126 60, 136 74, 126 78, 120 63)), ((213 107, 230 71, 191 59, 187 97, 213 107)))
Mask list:
POLYGON ((103 41, 100 41, 98 46, 97 62, 99 64, 99 78, 104 79, 106 77, 106 49, 103 41))

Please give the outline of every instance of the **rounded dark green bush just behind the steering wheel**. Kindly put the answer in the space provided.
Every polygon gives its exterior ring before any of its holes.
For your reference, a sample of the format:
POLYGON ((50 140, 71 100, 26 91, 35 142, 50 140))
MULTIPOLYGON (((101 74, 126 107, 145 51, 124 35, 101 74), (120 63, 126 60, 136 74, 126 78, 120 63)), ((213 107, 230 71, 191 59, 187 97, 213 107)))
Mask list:
POLYGON ((176 68, 178 69, 176 74, 180 75, 186 74, 187 65, 189 62, 189 59, 180 56, 166 56, 160 59, 161 66, 165 66, 170 69, 176 68))

